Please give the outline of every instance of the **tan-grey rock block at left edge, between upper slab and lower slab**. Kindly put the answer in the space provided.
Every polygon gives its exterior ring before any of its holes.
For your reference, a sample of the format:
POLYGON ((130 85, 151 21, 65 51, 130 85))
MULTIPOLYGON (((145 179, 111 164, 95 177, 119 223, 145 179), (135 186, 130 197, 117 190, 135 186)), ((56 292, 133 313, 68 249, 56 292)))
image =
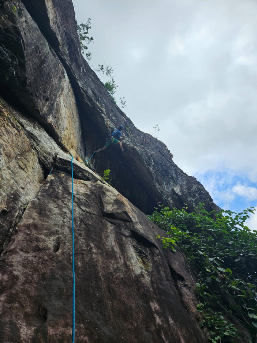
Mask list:
POLYGON ((49 173, 60 147, 0 97, 0 253, 49 173))

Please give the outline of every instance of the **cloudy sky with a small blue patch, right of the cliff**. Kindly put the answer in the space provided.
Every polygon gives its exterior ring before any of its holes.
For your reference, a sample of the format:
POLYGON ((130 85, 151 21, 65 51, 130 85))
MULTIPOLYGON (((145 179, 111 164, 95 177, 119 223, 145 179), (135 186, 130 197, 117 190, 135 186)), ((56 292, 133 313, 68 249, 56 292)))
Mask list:
MULTIPOLYGON (((257 206, 257 2, 74 0, 89 64, 110 64, 124 111, 222 208, 257 206)), ((102 81, 105 76, 98 73, 102 81)), ((248 225, 257 229, 257 214, 248 225)))

